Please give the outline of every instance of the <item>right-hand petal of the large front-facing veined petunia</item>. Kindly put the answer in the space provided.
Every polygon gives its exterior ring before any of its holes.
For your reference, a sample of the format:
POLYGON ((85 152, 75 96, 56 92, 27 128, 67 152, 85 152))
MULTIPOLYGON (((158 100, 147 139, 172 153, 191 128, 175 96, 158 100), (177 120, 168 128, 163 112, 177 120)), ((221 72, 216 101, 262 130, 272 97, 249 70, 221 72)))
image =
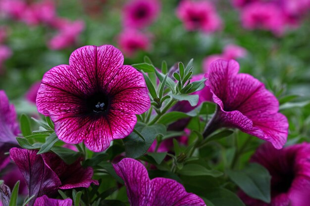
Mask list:
POLYGON ((107 90, 113 95, 113 108, 134 114, 142 114, 150 109, 150 97, 140 72, 124 65, 114 75, 114 79, 107 84, 107 90), (122 81, 117 81, 120 79, 118 76, 122 77, 122 81))

